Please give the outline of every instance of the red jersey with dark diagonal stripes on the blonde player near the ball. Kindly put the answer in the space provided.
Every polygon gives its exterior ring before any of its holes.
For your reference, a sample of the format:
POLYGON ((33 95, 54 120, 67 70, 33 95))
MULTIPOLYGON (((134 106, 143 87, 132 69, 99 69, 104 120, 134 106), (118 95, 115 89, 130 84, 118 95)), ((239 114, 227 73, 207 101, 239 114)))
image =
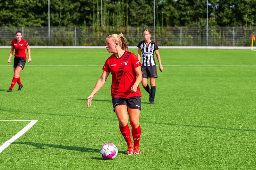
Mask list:
POLYGON ((136 55, 129 51, 125 51, 119 59, 113 54, 106 60, 102 70, 112 74, 112 99, 115 97, 130 98, 141 96, 139 86, 135 93, 131 92, 131 86, 136 81, 134 69, 140 65, 141 63, 136 55))

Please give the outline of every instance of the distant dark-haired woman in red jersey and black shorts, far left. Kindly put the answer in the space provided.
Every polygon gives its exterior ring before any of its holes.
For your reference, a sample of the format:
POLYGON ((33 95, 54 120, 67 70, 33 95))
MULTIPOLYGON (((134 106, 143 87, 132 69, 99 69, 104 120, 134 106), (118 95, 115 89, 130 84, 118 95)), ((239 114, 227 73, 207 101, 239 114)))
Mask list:
POLYGON ((11 82, 11 86, 8 90, 8 92, 12 91, 12 88, 14 87, 14 85, 16 84, 16 82, 18 82, 19 84, 19 91, 22 89, 23 85, 20 82, 20 77, 19 77, 19 73, 24 69, 26 60, 27 60, 27 56, 26 56, 26 48, 27 48, 27 53, 28 53, 28 62, 31 62, 31 54, 30 54, 30 48, 28 46, 28 43, 25 39, 22 39, 22 32, 17 31, 16 32, 16 39, 13 39, 11 41, 11 51, 10 51, 10 55, 9 55, 9 59, 8 59, 8 63, 11 62, 11 57, 13 54, 13 50, 15 49, 15 54, 14 54, 14 76, 11 82))

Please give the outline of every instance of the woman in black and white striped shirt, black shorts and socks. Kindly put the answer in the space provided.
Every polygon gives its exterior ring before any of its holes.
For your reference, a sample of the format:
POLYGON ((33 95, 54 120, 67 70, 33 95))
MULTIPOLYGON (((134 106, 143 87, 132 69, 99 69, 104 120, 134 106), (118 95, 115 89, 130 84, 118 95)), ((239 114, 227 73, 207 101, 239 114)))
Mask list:
POLYGON ((155 104, 155 78, 157 78, 156 64, 154 53, 159 63, 159 70, 163 71, 163 66, 161 63, 160 55, 158 52, 158 46, 154 41, 151 41, 151 34, 148 29, 143 32, 144 41, 139 42, 138 44, 138 60, 142 58, 142 86, 150 94, 149 104, 155 104), (141 57, 142 53, 142 57, 141 57), (147 79, 150 78, 150 86, 147 84, 147 79))

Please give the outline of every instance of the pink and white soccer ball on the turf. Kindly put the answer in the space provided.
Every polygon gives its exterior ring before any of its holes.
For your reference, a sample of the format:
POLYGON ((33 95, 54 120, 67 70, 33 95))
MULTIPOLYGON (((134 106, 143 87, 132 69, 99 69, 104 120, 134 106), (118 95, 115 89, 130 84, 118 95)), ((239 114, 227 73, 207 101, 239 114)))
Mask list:
POLYGON ((104 159, 114 159, 117 156, 117 146, 113 143, 105 143, 101 146, 101 156, 104 159))

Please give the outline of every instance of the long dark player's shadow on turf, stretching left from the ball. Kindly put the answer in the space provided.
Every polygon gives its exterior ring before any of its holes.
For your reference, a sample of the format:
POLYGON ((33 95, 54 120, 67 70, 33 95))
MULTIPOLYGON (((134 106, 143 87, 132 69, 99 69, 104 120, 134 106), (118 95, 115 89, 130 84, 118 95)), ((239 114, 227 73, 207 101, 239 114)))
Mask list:
POLYGON ((99 149, 93 149, 89 147, 64 146, 64 145, 43 144, 43 143, 34 143, 34 142, 14 142, 12 144, 31 145, 31 146, 37 147, 38 149, 46 149, 45 147, 54 147, 54 148, 79 151, 79 152, 89 152, 89 153, 99 152, 100 153, 99 149))

